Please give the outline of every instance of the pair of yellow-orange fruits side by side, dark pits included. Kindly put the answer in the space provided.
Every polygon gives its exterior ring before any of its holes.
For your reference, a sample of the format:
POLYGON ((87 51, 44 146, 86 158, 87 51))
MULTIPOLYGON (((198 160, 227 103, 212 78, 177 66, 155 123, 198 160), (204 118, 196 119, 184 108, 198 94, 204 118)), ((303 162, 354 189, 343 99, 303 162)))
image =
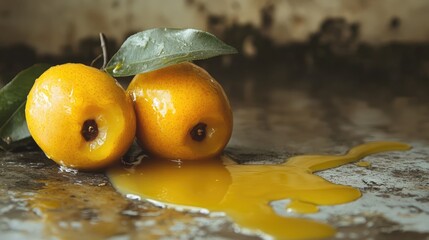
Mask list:
POLYGON ((219 154, 232 132, 222 87, 189 62, 136 75, 126 91, 93 67, 54 66, 36 80, 25 114, 49 158, 84 170, 119 160, 135 136, 149 154, 195 160, 219 154))

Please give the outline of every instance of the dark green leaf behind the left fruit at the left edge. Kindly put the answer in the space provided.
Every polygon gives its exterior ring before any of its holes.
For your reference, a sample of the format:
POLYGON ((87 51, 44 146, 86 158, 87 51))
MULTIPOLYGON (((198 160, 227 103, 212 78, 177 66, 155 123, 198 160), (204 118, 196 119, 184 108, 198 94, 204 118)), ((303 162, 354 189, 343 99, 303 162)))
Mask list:
POLYGON ((34 81, 50 66, 36 64, 15 76, 0 89, 0 148, 12 149, 30 137, 25 121, 25 102, 34 81))

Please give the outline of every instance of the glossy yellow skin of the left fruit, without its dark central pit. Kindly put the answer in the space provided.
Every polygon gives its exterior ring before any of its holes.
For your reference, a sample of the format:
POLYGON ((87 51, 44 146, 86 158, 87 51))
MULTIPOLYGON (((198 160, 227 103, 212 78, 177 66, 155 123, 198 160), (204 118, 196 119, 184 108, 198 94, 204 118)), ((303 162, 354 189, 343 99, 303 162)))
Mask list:
POLYGON ((45 71, 27 96, 25 116, 45 154, 76 169, 98 169, 119 160, 135 137, 135 113, 124 89, 107 73, 82 64, 45 71), (87 120, 95 120, 98 134, 85 140, 87 120))

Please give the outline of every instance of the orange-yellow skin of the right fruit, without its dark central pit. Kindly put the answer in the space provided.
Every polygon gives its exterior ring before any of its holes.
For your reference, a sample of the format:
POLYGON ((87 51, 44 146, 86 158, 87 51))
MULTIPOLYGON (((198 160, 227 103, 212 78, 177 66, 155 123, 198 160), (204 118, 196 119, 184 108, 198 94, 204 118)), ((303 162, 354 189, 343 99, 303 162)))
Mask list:
POLYGON ((204 69, 185 62, 138 74, 127 89, 137 117, 137 139, 149 154, 196 160, 221 153, 232 133, 232 112, 220 84, 204 69), (206 136, 192 129, 206 124, 206 136))

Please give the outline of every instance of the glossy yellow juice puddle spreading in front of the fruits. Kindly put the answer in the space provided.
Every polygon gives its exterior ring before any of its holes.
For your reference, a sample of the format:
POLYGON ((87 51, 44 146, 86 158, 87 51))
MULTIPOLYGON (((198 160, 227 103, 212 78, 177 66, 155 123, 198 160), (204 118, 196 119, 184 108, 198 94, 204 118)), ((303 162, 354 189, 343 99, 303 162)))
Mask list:
MULTIPOLYGON (((370 154, 409 150, 407 144, 371 142, 344 155, 304 155, 278 165, 239 165, 226 156, 204 161, 143 158, 107 174, 115 188, 166 206, 223 212, 241 228, 279 239, 325 238, 335 229, 322 222, 277 215, 270 202, 289 199, 287 211, 308 214, 361 196, 358 189, 328 182, 314 172, 356 162, 370 154)), ((304 215, 305 216, 305 215, 304 215)))

